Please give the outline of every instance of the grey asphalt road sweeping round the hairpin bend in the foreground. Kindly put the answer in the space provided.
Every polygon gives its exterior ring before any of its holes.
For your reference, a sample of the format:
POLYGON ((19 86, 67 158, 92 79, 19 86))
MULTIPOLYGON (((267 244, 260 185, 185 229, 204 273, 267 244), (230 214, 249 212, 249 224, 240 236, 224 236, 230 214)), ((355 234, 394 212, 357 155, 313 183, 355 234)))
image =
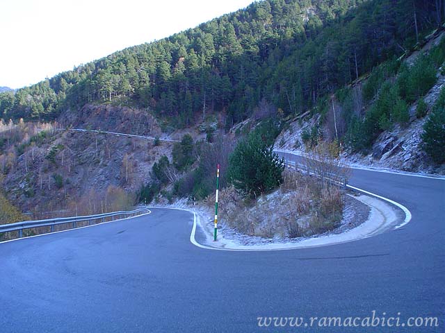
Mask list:
POLYGON ((191 244, 191 213, 153 209, 0 244, 0 332, 445 332, 445 181, 356 170, 350 184, 402 203, 412 221, 346 244, 226 252, 191 244), (439 327, 309 325, 373 310, 439 327), (308 326, 259 327, 260 316, 308 326))

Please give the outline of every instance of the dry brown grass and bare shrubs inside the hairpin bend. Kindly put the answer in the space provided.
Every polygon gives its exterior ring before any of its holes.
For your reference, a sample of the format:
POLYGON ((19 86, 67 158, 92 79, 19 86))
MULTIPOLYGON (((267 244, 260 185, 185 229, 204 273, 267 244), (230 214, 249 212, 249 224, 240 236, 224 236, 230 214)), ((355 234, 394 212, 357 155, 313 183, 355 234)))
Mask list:
MULTIPOLYGON (((327 174, 339 179, 348 175, 337 169, 341 163, 327 148, 317 147, 313 156, 317 159, 308 164, 311 169, 285 169, 280 186, 257 198, 245 196, 233 185, 220 191, 220 221, 241 234, 266 238, 309 237, 337 228, 343 216, 343 191, 327 180, 327 174)), ((214 195, 207 198, 209 207, 214 200, 214 195)))

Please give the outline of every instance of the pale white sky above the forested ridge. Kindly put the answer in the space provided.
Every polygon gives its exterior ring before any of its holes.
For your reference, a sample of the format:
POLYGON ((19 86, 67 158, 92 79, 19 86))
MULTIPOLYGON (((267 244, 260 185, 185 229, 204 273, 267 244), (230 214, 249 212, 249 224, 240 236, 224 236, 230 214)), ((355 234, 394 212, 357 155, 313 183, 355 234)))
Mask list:
POLYGON ((17 89, 254 0, 1 0, 0 87, 17 89))

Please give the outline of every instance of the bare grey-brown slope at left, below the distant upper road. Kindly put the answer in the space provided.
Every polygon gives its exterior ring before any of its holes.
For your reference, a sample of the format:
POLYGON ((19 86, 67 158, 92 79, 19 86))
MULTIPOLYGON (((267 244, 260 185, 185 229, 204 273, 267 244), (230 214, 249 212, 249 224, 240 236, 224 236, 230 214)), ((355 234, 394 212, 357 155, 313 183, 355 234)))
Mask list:
POLYGON ((73 205, 84 208, 82 198, 91 198, 96 205, 104 202, 109 187, 135 194, 151 179, 159 157, 171 160, 171 150, 169 142, 154 146, 146 139, 56 131, 17 157, 1 185, 15 205, 35 218, 49 218, 59 210, 74 215, 73 205), (54 156, 48 158, 51 151, 54 156))

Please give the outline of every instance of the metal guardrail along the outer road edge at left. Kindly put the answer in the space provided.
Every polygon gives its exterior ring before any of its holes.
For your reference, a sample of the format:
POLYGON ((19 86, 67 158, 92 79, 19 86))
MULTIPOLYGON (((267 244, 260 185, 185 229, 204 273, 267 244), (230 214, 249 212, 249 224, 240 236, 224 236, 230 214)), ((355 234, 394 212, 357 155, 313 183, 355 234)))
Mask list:
MULTIPOLYGON (((138 210, 132 210, 129 212, 119 211, 104 214, 88 215, 88 216, 76 216, 76 217, 57 217, 55 219, 47 220, 35 220, 35 221, 22 221, 9 224, 0 225, 0 233, 18 231, 18 237, 23 237, 23 230, 39 227, 51 227, 50 232, 54 232, 54 226, 66 223, 72 223, 72 228, 77 228, 78 222, 88 221, 88 225, 92 224, 92 221, 100 220, 99 223, 105 222, 106 218, 111 217, 112 221, 117 217, 123 218, 123 216, 135 216, 136 214, 149 212, 147 208, 139 208, 138 210)), ((95 223, 97 224, 97 223, 95 223)))

